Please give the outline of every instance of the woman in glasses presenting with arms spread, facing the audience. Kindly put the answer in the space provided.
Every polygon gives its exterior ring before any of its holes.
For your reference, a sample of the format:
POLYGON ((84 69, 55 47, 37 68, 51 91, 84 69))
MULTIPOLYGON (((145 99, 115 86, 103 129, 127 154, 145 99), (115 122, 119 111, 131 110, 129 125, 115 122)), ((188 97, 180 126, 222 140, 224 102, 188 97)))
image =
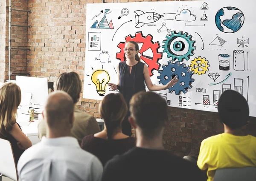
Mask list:
MULTIPOLYGON (((140 91, 145 91, 145 83, 149 91, 161 91, 171 88, 178 82, 177 77, 171 79, 166 85, 153 85, 151 82, 147 65, 140 61, 139 57, 139 45, 137 42, 128 41, 125 43, 125 58, 124 62, 120 62, 116 70, 118 71, 118 83, 108 83, 111 91, 118 90, 121 93, 127 105, 131 97, 140 91)), ((128 122, 130 112, 128 111, 124 121, 122 122, 122 132, 128 136, 131 136, 131 125, 128 122)))

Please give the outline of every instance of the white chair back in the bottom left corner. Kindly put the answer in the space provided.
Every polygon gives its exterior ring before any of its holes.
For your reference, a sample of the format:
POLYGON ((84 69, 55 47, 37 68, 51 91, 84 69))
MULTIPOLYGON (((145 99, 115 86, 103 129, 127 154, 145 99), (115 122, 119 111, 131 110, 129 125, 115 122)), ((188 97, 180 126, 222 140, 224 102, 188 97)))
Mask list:
POLYGON ((0 173, 5 177, 18 181, 12 145, 5 139, 0 139, 0 173))

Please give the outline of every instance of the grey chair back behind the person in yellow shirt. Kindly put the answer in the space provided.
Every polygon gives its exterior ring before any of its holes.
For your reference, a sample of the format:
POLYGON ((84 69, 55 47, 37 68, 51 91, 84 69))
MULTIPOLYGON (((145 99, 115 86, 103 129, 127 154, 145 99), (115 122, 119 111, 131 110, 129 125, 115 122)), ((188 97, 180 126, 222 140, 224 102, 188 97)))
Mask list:
POLYGON ((213 181, 256 181, 256 167, 218 169, 213 181))

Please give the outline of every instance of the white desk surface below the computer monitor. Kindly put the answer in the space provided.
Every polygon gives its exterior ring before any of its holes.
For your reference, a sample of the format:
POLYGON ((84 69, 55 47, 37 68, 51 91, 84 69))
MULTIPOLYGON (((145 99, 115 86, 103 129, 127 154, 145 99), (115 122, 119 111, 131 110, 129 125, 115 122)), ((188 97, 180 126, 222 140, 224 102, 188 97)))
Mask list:
MULTIPOLYGON (((39 120, 42 119, 42 114, 39 114, 39 120)), ((32 145, 38 143, 40 140, 38 138, 38 119, 34 119, 34 122, 29 122, 29 115, 18 113, 16 122, 20 124, 23 133, 28 136, 32 145)), ((104 129, 104 121, 102 119, 96 119, 101 130, 104 129)))

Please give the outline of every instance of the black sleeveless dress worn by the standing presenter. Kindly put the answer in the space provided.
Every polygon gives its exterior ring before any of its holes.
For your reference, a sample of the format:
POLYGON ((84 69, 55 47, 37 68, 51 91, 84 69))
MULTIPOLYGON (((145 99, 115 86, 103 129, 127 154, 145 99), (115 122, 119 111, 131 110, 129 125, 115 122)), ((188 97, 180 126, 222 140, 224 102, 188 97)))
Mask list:
POLYGON ((145 63, 138 62, 132 67, 130 74, 130 66, 126 62, 119 63, 119 93, 124 96, 128 106, 128 113, 122 122, 122 133, 128 136, 131 136, 131 124, 128 122, 130 99, 135 93, 145 91, 144 65, 145 63))

